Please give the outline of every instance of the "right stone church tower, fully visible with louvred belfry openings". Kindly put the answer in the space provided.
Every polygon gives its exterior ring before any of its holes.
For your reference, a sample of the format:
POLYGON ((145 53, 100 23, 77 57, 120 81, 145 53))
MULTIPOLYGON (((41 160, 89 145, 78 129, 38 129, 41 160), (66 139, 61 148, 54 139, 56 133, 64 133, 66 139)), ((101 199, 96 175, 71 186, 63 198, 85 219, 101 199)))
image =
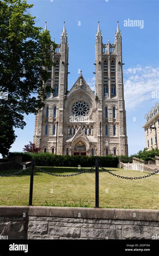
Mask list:
POLYGON ((98 151, 102 155, 127 155, 126 111, 122 73, 122 41, 117 22, 114 43, 103 44, 98 22, 96 33, 96 95, 98 97, 98 151), (102 143, 100 143, 102 122, 102 143))

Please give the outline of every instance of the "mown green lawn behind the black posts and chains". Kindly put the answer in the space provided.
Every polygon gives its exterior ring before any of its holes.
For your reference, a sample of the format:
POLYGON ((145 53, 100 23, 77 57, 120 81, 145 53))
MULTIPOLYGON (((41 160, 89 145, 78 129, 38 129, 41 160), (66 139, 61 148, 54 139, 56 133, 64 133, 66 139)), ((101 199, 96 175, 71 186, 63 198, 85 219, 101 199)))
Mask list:
MULTIPOLYGON (((83 171, 74 167, 41 167, 45 171, 57 174, 71 174, 83 171)), ((107 168, 112 172, 127 176, 139 177, 147 172, 128 171, 119 168, 107 168)), ((15 172, 1 171, 0 174, 15 172)), ((159 175, 155 174, 141 180, 126 180, 100 171, 99 174, 100 207, 159 209, 159 175)), ((0 177, 0 205, 28 205, 30 170, 10 177, 0 177)), ((33 204, 66 205, 79 201, 90 207, 95 205, 95 172, 83 173, 73 177, 54 177, 35 170, 33 204), (53 190, 53 193, 51 193, 53 190), (65 202, 64 202, 65 201, 65 202)))

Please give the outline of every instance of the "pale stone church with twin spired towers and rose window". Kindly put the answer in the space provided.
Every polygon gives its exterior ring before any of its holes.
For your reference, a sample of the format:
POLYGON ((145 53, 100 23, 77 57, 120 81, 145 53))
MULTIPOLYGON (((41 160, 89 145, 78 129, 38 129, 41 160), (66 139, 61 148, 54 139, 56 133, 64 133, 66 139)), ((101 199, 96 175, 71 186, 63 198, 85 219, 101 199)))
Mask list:
MULTIPOLYGON (((46 29, 46 27, 45 27, 46 29)), ((122 42, 117 24, 115 41, 103 44, 98 23, 95 45, 95 92, 82 71, 67 90, 68 42, 65 23, 61 43, 48 69, 54 94, 47 95, 36 115, 34 143, 41 152, 60 155, 127 155, 126 112, 122 73, 122 42), (40 143, 41 141, 41 143, 40 143)))

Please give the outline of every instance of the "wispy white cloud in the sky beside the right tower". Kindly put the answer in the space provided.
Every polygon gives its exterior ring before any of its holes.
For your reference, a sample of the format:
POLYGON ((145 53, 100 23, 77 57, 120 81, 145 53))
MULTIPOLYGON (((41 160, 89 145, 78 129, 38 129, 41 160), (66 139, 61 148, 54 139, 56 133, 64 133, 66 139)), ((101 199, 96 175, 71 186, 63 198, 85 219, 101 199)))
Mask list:
MULTIPOLYGON (((124 99, 126 108, 136 108, 146 101, 157 102, 153 92, 159 92, 159 68, 137 65, 124 71, 124 99)), ((157 94, 156 94, 157 95, 157 94)))

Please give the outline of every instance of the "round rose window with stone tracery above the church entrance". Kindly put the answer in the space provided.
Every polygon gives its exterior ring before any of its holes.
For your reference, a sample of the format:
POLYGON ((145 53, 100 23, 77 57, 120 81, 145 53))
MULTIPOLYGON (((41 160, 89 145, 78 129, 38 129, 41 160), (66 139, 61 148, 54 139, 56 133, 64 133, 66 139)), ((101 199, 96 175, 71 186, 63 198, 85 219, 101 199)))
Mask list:
POLYGON ((72 114, 86 117, 90 113, 90 106, 85 101, 77 101, 72 105, 72 114))

